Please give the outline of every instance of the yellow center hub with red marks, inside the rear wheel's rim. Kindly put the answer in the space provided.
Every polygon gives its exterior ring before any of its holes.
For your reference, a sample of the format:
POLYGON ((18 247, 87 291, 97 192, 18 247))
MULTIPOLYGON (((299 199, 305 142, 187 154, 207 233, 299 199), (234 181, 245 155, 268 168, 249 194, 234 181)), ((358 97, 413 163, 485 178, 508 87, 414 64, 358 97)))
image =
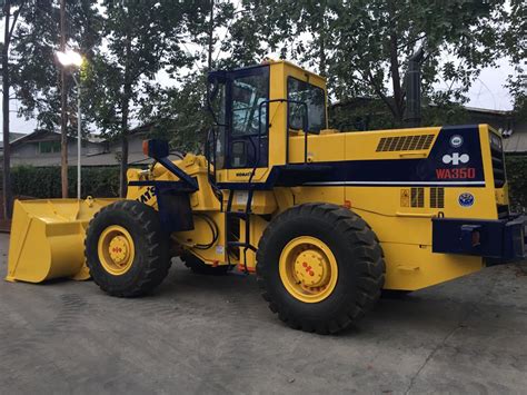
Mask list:
POLYGON ((305 287, 321 287, 329 280, 328 261, 320 251, 307 249, 295 259, 295 274, 305 287))

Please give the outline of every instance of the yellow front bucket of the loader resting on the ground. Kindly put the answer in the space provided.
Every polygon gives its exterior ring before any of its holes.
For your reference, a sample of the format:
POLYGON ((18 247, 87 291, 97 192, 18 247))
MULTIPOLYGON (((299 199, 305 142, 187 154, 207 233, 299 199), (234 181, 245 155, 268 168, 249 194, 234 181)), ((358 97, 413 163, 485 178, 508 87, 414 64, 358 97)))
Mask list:
POLYGON ((84 233, 102 207, 117 199, 14 200, 8 282, 88 279, 84 233))

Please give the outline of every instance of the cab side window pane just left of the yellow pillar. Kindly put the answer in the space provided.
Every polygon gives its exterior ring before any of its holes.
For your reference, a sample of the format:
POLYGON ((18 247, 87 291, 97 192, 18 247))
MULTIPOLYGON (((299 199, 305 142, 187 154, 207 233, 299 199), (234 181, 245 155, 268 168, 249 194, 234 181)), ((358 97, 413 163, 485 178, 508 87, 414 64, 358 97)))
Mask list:
POLYGON ((267 106, 260 103, 269 97, 267 68, 252 76, 236 78, 232 82, 232 135, 265 135, 267 132, 267 106))

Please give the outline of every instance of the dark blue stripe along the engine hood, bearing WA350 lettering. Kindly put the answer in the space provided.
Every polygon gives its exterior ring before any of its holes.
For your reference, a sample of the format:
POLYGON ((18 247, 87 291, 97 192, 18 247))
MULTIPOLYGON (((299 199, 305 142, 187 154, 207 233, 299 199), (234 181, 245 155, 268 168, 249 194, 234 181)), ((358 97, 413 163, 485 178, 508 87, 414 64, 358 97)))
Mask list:
MULTIPOLYGON (((375 155, 376 152, 372 152, 375 155)), ((291 186, 441 186, 485 187, 479 131, 477 126, 443 128, 427 158, 345 160, 274 166, 265 182, 255 189, 291 186), (450 138, 463 136, 461 147, 451 147, 450 138), (468 155, 466 164, 445 164, 445 155, 468 155), (473 178, 438 178, 437 170, 474 169, 473 178)), ((225 189, 247 189, 247 182, 220 182, 225 189)))

